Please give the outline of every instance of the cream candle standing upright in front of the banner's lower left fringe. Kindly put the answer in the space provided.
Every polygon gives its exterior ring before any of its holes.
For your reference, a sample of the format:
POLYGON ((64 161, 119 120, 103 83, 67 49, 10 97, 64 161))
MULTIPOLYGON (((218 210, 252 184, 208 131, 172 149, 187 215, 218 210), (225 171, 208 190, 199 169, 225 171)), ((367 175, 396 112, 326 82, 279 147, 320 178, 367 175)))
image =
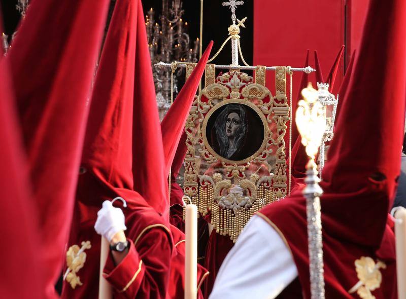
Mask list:
POLYGON ((185 299, 197 296, 197 207, 186 206, 185 299))

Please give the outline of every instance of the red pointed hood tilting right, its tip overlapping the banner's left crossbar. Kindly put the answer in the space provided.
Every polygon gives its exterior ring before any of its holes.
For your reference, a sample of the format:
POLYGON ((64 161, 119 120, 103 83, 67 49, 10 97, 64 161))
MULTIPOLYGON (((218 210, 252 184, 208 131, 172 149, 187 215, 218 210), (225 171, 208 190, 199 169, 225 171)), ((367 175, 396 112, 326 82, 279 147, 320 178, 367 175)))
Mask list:
POLYGON ((161 123, 163 153, 165 155, 165 173, 169 175, 175 151, 185 130, 185 123, 189 115, 196 90, 199 86, 201 76, 205 71, 210 51, 213 47, 213 41, 209 43, 205 53, 200 58, 196 67, 190 74, 189 79, 179 92, 171 108, 167 111, 161 123))

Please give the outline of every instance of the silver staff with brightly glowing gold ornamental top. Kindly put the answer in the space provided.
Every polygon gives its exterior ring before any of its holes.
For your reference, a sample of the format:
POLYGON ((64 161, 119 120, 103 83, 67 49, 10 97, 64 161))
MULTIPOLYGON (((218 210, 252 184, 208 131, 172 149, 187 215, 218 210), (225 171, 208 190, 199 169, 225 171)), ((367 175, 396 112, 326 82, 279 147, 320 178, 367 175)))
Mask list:
POLYGON ((309 242, 310 290, 312 299, 324 299, 323 243, 321 234, 320 195, 323 193, 320 179, 317 176, 315 157, 320 146, 326 126, 325 111, 320 103, 319 92, 312 83, 301 91, 303 100, 298 102, 296 125, 301 142, 306 147, 310 160, 306 166, 306 187, 303 196, 306 198, 307 230, 309 242))

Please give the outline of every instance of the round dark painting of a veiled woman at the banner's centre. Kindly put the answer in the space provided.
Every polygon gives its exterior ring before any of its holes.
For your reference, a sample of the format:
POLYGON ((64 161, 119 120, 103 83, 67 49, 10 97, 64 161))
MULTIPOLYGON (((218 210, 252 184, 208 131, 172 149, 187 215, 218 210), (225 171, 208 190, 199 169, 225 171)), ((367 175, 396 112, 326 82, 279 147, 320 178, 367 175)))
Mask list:
POLYGON ((212 154, 238 162, 262 151, 266 121, 260 117, 260 110, 251 105, 233 102, 213 107, 205 122, 205 139, 209 151, 214 151, 212 154))

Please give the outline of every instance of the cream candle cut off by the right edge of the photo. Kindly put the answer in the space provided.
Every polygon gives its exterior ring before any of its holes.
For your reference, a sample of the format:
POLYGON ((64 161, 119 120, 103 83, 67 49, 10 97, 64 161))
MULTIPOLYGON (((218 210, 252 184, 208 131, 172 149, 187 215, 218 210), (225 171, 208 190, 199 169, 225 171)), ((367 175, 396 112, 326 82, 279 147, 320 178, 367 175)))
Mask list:
POLYGON ((406 209, 395 212, 396 275, 398 299, 406 299, 406 209))

